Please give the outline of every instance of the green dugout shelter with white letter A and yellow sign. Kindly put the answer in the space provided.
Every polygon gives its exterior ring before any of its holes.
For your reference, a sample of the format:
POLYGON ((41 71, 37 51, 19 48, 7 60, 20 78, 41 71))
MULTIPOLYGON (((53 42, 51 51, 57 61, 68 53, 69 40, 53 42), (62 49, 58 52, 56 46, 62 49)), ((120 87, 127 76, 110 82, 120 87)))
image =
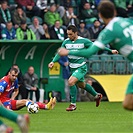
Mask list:
POLYGON ((60 91, 64 99, 64 80, 60 65, 55 63, 52 70, 48 68, 48 63, 61 43, 60 40, 0 41, 0 78, 5 75, 12 64, 18 64, 23 74, 29 66, 33 66, 35 73, 41 79, 40 88, 45 89, 45 98, 48 98, 49 91, 55 90, 60 91))

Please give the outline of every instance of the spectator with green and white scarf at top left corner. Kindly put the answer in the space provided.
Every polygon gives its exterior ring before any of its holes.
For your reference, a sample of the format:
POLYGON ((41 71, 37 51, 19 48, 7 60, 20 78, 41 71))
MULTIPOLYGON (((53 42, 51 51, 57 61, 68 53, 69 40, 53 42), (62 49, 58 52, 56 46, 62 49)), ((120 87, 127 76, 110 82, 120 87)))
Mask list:
POLYGON ((2 27, 6 27, 6 23, 12 21, 11 13, 8 9, 8 3, 6 0, 2 0, 0 4, 0 23, 2 27))

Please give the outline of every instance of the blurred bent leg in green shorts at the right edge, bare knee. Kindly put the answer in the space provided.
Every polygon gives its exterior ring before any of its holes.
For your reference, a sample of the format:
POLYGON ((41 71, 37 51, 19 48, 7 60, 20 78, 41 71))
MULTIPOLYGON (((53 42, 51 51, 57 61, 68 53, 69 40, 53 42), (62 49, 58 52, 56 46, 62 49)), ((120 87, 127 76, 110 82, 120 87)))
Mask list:
POLYGON ((125 99, 123 101, 123 108, 127 110, 133 110, 133 76, 131 77, 126 90, 125 99))

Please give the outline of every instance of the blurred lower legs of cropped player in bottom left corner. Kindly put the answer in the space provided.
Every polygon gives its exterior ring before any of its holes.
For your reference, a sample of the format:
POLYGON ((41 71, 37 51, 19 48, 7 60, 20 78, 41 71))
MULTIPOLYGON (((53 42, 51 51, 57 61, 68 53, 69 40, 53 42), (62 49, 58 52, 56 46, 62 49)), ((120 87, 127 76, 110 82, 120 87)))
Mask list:
MULTIPOLYGON (((0 102, 0 116, 15 122, 19 126, 22 133, 28 133, 28 127, 29 127, 29 115, 28 114, 18 115, 15 112, 7 110, 0 102)), ((13 133, 13 129, 5 125, 0 120, 0 133, 13 133)))

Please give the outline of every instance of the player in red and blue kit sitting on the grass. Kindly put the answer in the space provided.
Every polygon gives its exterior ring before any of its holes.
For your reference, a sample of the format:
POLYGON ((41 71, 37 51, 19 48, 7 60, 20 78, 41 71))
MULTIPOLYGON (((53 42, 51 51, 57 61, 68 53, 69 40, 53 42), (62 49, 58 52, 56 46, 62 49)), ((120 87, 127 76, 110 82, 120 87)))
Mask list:
MULTIPOLYGON (((33 101, 28 99, 15 100, 18 95, 18 69, 11 68, 8 75, 0 80, 0 101, 2 104, 11 110, 19 110, 33 101), (11 98, 10 98, 11 95, 11 98)), ((53 109, 56 104, 56 98, 51 98, 48 104, 36 102, 40 109, 53 109)))

